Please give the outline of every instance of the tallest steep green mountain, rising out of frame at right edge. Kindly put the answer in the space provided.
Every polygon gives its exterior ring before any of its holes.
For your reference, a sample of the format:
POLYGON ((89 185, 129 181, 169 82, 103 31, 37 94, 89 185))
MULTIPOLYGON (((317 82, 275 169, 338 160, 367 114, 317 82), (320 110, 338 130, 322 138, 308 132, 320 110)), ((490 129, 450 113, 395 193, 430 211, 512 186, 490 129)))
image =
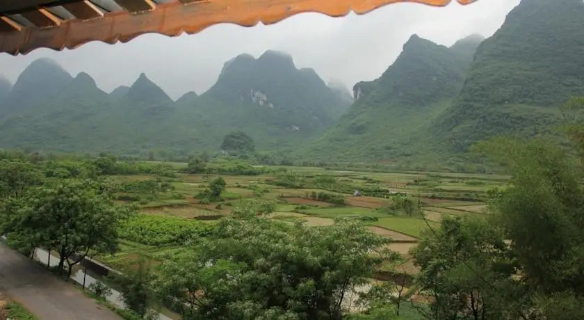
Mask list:
POLYGON ((478 47, 453 107, 430 132, 451 152, 499 134, 547 134, 557 107, 584 95, 584 3, 523 0, 478 47))

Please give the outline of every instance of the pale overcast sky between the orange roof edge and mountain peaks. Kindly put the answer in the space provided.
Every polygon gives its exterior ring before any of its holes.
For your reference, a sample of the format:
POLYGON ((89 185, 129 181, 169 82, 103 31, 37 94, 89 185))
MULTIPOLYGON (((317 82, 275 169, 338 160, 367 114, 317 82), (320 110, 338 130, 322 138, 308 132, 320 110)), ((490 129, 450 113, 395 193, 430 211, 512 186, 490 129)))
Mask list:
POLYGON ((410 35, 417 33, 447 46, 472 33, 488 37, 518 3, 482 0, 446 8, 396 3, 362 16, 332 18, 305 13, 271 26, 222 24, 178 38, 143 35, 126 44, 90 42, 72 51, 38 49, 17 57, 0 54, 0 74, 14 83, 31 61, 50 57, 73 75, 87 72, 106 92, 130 86, 144 72, 177 99, 188 91, 207 90, 223 63, 234 56, 248 53, 257 57, 276 49, 291 54, 297 67, 312 67, 323 80, 338 79, 350 88, 358 81, 380 77, 410 35))

